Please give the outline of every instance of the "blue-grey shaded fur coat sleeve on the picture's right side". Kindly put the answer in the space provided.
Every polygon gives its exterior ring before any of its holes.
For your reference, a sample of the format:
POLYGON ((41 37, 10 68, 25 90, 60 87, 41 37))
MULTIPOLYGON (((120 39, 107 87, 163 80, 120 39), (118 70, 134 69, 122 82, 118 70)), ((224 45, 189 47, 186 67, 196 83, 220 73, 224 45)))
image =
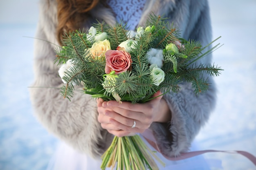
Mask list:
MULTIPOLYGON (((207 45, 211 42, 207 1, 193 1, 190 5, 182 4, 183 2, 185 1, 181 0, 175 4, 178 9, 171 12, 171 19, 179 28, 183 28, 183 38, 200 41, 202 46, 207 45)), ((200 63, 210 62, 209 55, 200 60, 200 63)), ((150 127, 164 155, 177 156, 188 151, 200 128, 209 119, 216 104, 216 87, 212 77, 208 77, 208 80, 210 86, 206 93, 195 95, 191 84, 184 82, 180 84, 182 89, 179 93, 164 95, 172 113, 171 121, 168 125, 155 122, 150 127)))

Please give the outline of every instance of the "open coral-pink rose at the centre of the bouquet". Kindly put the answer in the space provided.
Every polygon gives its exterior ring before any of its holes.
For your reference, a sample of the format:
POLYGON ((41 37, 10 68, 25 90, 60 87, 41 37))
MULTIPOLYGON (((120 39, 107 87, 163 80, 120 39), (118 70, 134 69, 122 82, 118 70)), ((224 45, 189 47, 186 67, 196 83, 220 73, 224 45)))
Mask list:
POLYGON ((106 74, 109 74, 111 71, 115 71, 116 74, 124 72, 130 68, 132 63, 130 54, 124 50, 108 50, 105 53, 105 58, 106 74))

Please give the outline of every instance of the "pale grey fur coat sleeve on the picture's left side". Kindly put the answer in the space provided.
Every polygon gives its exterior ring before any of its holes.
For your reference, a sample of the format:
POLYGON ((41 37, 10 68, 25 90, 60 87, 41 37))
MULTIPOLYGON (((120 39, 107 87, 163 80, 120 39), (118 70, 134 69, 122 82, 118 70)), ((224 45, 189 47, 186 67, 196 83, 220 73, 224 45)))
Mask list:
POLYGON ((97 102, 76 87, 71 102, 60 95, 63 85, 54 64, 56 45, 55 2, 40 4, 40 15, 34 51, 34 84, 30 88, 31 103, 38 121, 54 135, 77 150, 100 156, 112 136, 97 121, 97 102), (106 140, 106 138, 109 140, 106 140))

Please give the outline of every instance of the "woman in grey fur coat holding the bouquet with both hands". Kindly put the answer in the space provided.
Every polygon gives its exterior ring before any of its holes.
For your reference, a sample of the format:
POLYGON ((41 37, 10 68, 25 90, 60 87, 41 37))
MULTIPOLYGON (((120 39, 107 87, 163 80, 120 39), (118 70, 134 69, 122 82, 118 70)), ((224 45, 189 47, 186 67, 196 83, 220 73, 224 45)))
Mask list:
MULTIPOLYGON (((63 83, 58 76, 59 66, 54 64, 54 49, 66 32, 88 30, 96 20, 113 25, 121 19, 128 21, 130 29, 135 29, 143 26, 152 12, 168 17, 168 21, 181 30, 182 38, 199 41, 202 46, 211 42, 207 0, 40 2, 36 38, 46 41, 35 41, 33 86, 57 88, 30 89, 35 115, 50 132, 93 159, 100 159, 113 135, 121 137, 131 132, 141 133, 147 128, 152 130, 162 155, 173 157, 187 152, 215 106, 216 89, 211 77, 208 78, 210 86, 207 93, 195 95, 191 84, 182 83, 179 93, 167 94, 146 104, 96 101, 80 91, 75 91, 71 102, 60 95, 58 88, 63 83), (131 7, 136 7, 136 10, 131 7), (132 128, 134 122, 136 126, 132 128)), ((211 56, 200 60, 204 64, 210 62, 211 56)))

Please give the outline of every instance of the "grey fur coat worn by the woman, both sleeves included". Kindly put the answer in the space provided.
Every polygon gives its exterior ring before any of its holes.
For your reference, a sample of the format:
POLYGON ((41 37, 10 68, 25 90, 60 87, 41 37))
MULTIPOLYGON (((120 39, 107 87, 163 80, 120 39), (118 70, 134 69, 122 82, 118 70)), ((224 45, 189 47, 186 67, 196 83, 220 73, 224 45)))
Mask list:
MULTIPOLYGON (((39 5, 40 15, 35 37, 48 42, 35 40, 33 86, 38 88, 30 88, 34 114, 59 139, 81 152, 99 158, 110 145, 113 136, 101 128, 97 121, 97 102, 90 95, 76 91, 71 102, 60 95, 58 87, 63 83, 58 76, 59 67, 54 64, 54 44, 58 44, 55 35, 56 2, 49 1, 50 5, 47 0, 41 0, 39 5)), ((198 40, 203 46, 211 42, 207 0, 147 0, 139 25, 143 26, 150 12, 170 18, 170 22, 180 28, 181 36, 187 40, 198 40)), ((112 12, 100 5, 91 14, 108 24, 115 23, 112 12)), ((90 27, 92 21, 94 18, 85 23, 85 29, 90 27)), ((204 57, 200 62, 210 63, 211 56, 204 57)), ((182 90, 179 93, 164 95, 172 119, 169 124, 154 122, 150 126, 162 154, 176 156, 189 150, 191 142, 215 106, 216 89, 211 77, 209 82, 209 91, 198 96, 188 83, 180 84, 182 90)))

